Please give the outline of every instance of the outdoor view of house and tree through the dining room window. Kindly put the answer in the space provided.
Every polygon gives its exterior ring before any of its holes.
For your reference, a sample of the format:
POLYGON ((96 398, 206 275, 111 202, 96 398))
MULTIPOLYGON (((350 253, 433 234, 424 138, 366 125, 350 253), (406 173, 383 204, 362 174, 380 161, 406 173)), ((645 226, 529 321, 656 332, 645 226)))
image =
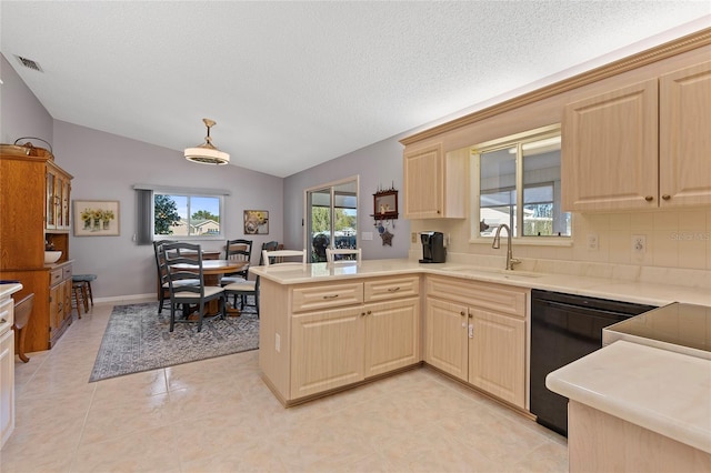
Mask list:
POLYGON ((153 194, 153 234, 220 236, 222 199, 211 195, 153 194))

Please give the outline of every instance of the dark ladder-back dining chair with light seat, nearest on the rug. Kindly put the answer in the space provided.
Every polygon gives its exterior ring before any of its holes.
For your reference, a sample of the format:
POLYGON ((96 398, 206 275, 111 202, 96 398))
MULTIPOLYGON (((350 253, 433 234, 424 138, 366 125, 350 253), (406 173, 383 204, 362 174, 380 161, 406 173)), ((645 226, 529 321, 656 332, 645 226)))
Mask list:
POLYGON ((170 332, 176 322, 193 322, 189 319, 189 306, 197 305, 198 332, 202 330, 202 321, 206 316, 212 319, 212 314, 206 314, 210 301, 219 302, 219 312, 214 316, 227 316, 227 303, 224 289, 217 285, 206 285, 202 271, 202 251, 199 244, 186 242, 163 243, 159 246, 160 258, 163 259, 168 274, 168 288, 170 293, 170 332), (181 254, 184 250, 189 253, 181 254), (198 281, 192 284, 190 281, 198 281), (178 306, 182 308, 183 318, 176 319, 178 306))

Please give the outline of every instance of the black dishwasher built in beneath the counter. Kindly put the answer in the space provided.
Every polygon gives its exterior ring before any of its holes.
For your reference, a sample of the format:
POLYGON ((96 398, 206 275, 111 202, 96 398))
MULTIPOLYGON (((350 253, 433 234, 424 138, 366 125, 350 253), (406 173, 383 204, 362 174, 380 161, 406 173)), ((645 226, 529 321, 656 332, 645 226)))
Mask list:
POLYGON ((602 348, 602 329, 651 305, 531 291, 531 413, 537 422, 568 435, 568 399, 545 388, 545 376, 602 348))

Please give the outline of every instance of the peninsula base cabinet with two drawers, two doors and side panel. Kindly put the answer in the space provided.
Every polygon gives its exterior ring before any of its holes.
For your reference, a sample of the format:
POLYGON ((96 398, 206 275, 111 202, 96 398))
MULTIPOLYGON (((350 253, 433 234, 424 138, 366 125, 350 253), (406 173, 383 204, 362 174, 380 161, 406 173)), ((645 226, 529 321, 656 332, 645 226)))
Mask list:
POLYGON ((261 292, 260 368, 284 404, 421 362, 417 275, 289 289, 266 280, 261 292))

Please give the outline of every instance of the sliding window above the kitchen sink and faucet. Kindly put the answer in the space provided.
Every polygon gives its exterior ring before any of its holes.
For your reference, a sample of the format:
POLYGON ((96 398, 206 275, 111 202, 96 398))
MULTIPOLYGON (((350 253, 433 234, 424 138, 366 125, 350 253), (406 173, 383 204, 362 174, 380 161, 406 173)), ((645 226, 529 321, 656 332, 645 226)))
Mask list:
POLYGON ((570 213, 561 210, 560 125, 474 147, 472 240, 493 236, 508 224, 513 238, 570 241, 570 213))

